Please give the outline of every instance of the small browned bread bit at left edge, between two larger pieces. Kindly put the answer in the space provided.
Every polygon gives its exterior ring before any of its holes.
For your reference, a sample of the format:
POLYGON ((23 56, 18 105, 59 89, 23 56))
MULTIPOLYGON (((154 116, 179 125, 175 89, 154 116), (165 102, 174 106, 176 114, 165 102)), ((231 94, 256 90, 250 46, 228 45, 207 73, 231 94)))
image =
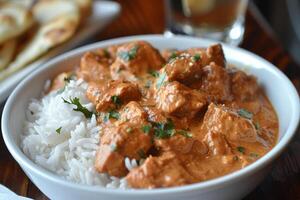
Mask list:
POLYGON ((13 59, 16 46, 15 39, 8 40, 0 45, 0 70, 4 69, 13 59))

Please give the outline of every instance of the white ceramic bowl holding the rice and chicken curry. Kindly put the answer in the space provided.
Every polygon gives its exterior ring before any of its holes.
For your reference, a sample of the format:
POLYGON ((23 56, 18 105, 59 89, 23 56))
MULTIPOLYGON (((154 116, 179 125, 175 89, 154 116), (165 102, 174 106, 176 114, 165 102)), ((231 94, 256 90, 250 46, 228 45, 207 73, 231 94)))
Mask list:
POLYGON ((249 193, 264 178, 272 162, 287 147, 295 134, 299 121, 299 96, 289 79, 266 60, 239 48, 223 45, 228 63, 236 64, 254 74, 271 100, 279 117, 278 144, 258 161, 237 172, 213 180, 192 185, 155 190, 120 190, 80 185, 36 165, 25 156, 19 147, 25 110, 31 98, 39 98, 47 79, 59 72, 77 66, 80 56, 99 47, 132 40, 147 40, 158 49, 208 46, 213 41, 199 38, 161 35, 133 36, 98 42, 58 56, 43 64, 22 81, 10 95, 2 116, 3 138, 10 153, 28 177, 50 199, 240 199, 249 193))

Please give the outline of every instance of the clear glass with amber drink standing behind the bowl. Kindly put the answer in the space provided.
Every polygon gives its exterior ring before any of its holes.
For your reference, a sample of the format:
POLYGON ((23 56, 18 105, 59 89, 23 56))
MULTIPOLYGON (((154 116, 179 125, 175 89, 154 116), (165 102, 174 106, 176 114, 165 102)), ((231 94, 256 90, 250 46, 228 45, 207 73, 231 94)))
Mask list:
POLYGON ((165 0, 165 34, 185 34, 239 45, 248 0, 165 0))

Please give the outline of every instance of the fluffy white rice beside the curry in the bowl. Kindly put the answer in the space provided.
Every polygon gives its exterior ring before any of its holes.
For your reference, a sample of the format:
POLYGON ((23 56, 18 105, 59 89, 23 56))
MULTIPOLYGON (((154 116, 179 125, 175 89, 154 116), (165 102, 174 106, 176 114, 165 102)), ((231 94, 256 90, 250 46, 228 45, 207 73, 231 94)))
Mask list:
MULTIPOLYGON (((26 113, 21 147, 35 163, 69 181, 128 188, 124 178, 100 174, 94 168, 100 130, 96 116, 87 119, 81 112, 74 111, 73 105, 63 102, 62 98, 78 97, 83 106, 93 111, 94 105, 85 97, 86 88, 82 80, 71 80, 63 92, 54 91, 41 100, 33 99, 26 113)), ((126 158, 125 166, 131 170, 138 163, 126 158)))

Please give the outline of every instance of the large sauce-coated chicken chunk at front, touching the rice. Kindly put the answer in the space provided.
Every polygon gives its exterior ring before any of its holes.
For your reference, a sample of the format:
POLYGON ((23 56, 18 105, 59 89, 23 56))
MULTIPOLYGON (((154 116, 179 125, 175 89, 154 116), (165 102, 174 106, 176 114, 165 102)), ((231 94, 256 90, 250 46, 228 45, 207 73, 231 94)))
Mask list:
POLYGON ((125 176, 128 172, 125 158, 144 158, 151 146, 151 135, 145 134, 141 125, 124 122, 107 126, 101 135, 95 168, 98 172, 111 176, 125 176))

